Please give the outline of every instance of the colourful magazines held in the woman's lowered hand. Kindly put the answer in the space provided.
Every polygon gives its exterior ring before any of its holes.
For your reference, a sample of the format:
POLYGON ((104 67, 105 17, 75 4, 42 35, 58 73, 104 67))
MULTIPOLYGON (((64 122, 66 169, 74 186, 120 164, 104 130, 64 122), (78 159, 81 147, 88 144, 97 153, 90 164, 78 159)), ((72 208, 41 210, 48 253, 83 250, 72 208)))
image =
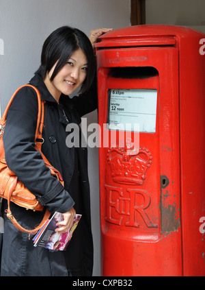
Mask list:
POLYGON ((57 228, 56 223, 64 220, 61 213, 55 212, 53 217, 51 217, 51 219, 47 219, 44 226, 42 226, 33 238, 34 247, 38 246, 49 250, 65 251, 80 219, 81 215, 76 215, 72 228, 63 233, 55 232, 55 228, 57 228))

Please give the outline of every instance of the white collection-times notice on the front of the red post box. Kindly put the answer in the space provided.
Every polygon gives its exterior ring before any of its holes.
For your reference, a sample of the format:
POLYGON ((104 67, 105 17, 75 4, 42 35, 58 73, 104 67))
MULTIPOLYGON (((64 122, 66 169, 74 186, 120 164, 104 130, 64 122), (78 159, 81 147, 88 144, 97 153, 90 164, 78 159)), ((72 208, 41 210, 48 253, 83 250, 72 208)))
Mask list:
POLYGON ((111 89, 109 129, 154 133, 157 90, 111 89))

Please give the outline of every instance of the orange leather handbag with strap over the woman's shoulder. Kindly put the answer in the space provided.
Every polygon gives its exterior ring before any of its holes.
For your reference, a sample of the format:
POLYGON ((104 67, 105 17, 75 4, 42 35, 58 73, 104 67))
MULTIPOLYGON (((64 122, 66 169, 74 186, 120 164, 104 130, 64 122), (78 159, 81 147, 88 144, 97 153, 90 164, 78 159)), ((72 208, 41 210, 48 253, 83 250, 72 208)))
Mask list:
MULTIPOLYGON (((44 159, 44 163, 49 169, 51 169, 51 175, 55 176, 57 180, 61 182, 61 184, 64 184, 61 174, 57 169, 55 169, 50 162, 46 159, 44 154, 41 152, 42 143, 44 142, 42 138, 42 128, 43 128, 43 122, 44 122, 44 101, 40 98, 40 93, 38 89, 35 86, 31 86, 30 84, 26 84, 24 86, 30 86, 33 88, 33 90, 36 91, 37 97, 38 97, 38 118, 37 118, 37 125, 36 125, 36 134, 35 134, 35 148, 40 152, 42 155, 42 158, 44 159)), ((20 88, 23 88, 24 86, 20 86, 20 88)), ((18 180, 17 176, 12 172, 5 161, 5 152, 3 148, 3 130, 5 128, 5 122, 6 122, 6 115, 8 112, 8 109, 10 108, 10 105, 12 104, 12 101, 18 93, 18 88, 14 94, 12 95, 8 106, 5 108, 5 112, 3 113, 3 116, 0 120, 0 197, 5 198, 8 200, 8 210, 7 217, 14 223, 14 226, 18 228, 18 230, 22 232, 29 232, 30 234, 35 234, 40 230, 44 222, 49 218, 50 213, 48 210, 46 210, 44 218, 42 219, 42 222, 38 227, 36 227, 33 230, 25 229, 20 224, 14 216, 12 215, 12 212, 10 210, 10 202, 14 202, 14 204, 17 204, 18 206, 23 206, 24 208, 31 209, 31 210, 43 210, 43 206, 40 205, 38 200, 36 199, 36 195, 33 195, 20 180, 18 180)))

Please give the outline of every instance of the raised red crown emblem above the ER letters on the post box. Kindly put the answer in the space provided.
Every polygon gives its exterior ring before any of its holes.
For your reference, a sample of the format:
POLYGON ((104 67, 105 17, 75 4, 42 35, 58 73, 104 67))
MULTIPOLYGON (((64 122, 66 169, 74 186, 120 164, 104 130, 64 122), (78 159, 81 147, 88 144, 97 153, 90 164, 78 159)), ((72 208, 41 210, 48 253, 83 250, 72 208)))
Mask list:
POLYGON ((111 166, 113 181, 122 184, 142 185, 146 179, 146 171, 152 165, 150 151, 134 147, 131 140, 126 140, 124 148, 111 147, 107 152, 107 160, 111 166))

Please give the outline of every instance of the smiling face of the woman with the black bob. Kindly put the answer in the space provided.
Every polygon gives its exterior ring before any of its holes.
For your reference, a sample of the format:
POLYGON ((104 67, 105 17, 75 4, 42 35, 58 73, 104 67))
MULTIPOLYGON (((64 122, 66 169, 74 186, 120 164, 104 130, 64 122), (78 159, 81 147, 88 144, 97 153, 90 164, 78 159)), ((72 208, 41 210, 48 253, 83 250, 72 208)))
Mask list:
MULTIPOLYGON (((56 62, 57 64, 57 62, 56 62)), ((81 49, 74 51, 68 62, 57 73, 53 81, 50 81, 51 75, 56 64, 51 71, 47 73, 44 83, 53 97, 59 101, 61 93, 70 95, 74 90, 83 84, 87 76, 87 58, 81 49)))

